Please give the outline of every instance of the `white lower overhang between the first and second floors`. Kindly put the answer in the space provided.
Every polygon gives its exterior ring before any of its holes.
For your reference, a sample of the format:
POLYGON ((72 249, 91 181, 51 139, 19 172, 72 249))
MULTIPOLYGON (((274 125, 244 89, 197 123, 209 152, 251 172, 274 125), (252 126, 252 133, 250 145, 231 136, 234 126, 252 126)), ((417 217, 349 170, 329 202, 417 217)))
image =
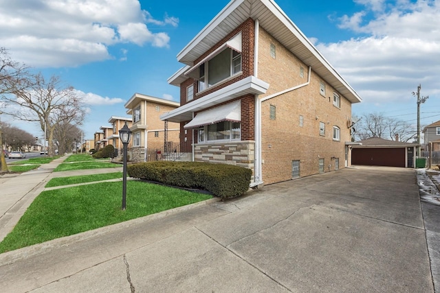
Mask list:
POLYGON ((170 122, 189 121, 192 119, 192 113, 231 101, 243 95, 261 95, 266 93, 267 89, 269 89, 269 84, 267 84, 267 82, 263 82, 263 80, 259 80, 254 76, 248 76, 248 78, 243 78, 243 80, 234 82, 218 91, 214 91, 204 97, 195 99, 168 113, 164 113, 160 116, 160 119, 168 120, 170 122))

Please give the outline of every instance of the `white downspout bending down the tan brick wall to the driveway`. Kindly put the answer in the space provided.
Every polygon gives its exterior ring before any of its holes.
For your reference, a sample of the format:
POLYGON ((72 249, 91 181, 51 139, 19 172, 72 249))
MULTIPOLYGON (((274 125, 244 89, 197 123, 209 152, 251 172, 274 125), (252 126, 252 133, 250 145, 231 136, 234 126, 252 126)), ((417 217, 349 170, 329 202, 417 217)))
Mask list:
POLYGON ((294 86, 292 88, 289 89, 285 89, 284 91, 280 91, 278 93, 274 93, 272 95, 268 95, 267 97, 263 97, 263 99, 259 99, 258 95, 256 95, 256 104, 255 104, 255 117, 256 117, 256 124, 255 124, 255 129, 256 129, 256 139, 255 139, 255 155, 256 155, 256 167, 255 167, 255 174, 256 170, 258 169, 258 177, 256 176, 256 178, 258 178, 258 182, 257 180, 251 184, 251 187, 254 187, 256 185, 261 185, 263 184, 263 156, 262 156, 262 152, 261 152, 261 148, 262 148, 262 143, 261 143, 261 104, 265 101, 267 101, 268 99, 272 99, 274 97, 278 97, 278 95, 283 95, 284 93, 288 93, 289 91, 295 91, 297 89, 302 88, 303 86, 308 86, 310 84, 310 78, 311 78, 311 66, 309 66, 309 73, 307 75, 307 82, 305 82, 304 84, 298 84, 297 86, 294 86))

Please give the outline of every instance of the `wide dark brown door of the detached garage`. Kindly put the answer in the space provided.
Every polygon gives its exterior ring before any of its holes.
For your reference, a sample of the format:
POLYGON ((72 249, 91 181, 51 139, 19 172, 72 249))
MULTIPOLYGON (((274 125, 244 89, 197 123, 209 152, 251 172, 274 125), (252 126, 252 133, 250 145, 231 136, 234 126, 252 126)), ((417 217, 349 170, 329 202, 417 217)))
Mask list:
POLYGON ((405 148, 353 148, 353 165, 405 167, 405 148))

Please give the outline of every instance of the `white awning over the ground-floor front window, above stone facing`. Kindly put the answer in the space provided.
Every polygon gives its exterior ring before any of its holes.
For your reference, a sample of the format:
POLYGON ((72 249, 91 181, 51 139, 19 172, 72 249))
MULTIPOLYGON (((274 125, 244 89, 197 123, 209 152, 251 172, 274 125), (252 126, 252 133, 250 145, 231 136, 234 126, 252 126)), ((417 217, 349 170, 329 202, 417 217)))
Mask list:
POLYGON ((214 124, 221 121, 241 121, 241 101, 232 102, 218 106, 200 113, 184 126, 184 128, 195 128, 202 125, 214 124))

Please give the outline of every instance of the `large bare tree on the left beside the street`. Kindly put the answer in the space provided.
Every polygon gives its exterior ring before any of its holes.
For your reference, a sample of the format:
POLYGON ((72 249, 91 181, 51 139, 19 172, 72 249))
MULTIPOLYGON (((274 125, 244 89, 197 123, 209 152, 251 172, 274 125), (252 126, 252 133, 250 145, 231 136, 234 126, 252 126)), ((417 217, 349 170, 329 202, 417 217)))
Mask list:
POLYGON ((41 73, 28 75, 17 86, 10 85, 14 95, 3 95, 8 105, 5 113, 24 121, 37 121, 45 131, 47 152, 54 155, 54 130, 60 123, 74 121, 80 125, 85 117, 83 97, 72 86, 63 86, 61 79, 53 75, 46 80, 41 73))

